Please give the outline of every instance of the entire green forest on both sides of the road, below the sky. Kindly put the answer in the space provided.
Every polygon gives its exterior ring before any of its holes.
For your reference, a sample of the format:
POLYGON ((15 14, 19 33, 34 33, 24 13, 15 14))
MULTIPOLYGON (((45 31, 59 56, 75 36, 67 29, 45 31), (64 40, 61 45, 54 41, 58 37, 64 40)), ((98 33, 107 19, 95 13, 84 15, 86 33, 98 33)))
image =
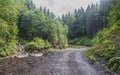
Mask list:
POLYGON ((100 0, 62 17, 32 0, 0 0, 0 58, 19 43, 26 51, 91 46, 90 60, 120 74, 120 0, 100 0))

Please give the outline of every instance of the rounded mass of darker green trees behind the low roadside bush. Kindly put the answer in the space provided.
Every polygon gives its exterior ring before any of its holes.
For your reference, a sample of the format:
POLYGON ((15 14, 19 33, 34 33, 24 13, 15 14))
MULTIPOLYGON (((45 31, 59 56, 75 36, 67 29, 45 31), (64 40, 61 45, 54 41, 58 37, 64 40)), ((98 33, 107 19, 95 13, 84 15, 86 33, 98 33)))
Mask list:
POLYGON ((42 39, 48 40, 53 47, 64 48, 67 45, 67 26, 37 9, 22 13, 18 29, 19 37, 28 41, 35 37, 42 37, 42 39))

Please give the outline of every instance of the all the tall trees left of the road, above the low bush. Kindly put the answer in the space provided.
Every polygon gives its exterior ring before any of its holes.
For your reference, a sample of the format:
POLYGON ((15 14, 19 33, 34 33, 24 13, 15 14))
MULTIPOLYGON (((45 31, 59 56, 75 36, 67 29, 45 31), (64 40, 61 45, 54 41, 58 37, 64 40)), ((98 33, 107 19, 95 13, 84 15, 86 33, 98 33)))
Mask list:
POLYGON ((66 35, 67 26, 49 10, 35 8, 32 0, 0 1, 0 56, 15 50, 16 43, 37 37, 51 47, 64 48, 66 35))

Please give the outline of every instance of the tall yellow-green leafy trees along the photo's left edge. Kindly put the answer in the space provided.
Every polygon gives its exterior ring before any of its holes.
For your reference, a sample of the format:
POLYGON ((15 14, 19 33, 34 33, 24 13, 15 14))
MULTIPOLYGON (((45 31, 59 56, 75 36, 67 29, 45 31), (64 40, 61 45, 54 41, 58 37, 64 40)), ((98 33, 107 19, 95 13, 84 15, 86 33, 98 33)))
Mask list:
POLYGON ((15 49, 18 13, 13 0, 0 1, 0 56, 15 49))

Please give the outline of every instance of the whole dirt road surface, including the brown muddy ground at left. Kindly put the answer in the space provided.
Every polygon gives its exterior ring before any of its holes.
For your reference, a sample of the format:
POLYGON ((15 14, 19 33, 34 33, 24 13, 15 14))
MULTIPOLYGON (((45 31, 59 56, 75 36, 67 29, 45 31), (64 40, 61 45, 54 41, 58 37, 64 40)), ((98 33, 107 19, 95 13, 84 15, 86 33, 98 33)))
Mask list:
POLYGON ((87 49, 51 52, 42 57, 4 59, 0 62, 0 75, 106 75, 89 63, 83 54, 87 49))

